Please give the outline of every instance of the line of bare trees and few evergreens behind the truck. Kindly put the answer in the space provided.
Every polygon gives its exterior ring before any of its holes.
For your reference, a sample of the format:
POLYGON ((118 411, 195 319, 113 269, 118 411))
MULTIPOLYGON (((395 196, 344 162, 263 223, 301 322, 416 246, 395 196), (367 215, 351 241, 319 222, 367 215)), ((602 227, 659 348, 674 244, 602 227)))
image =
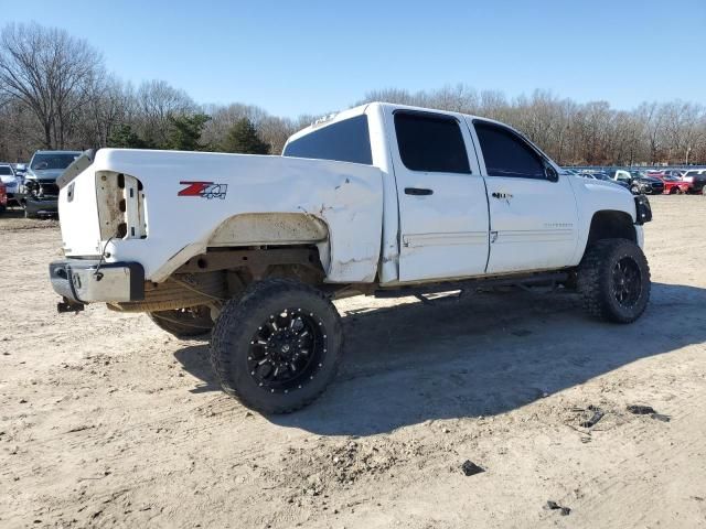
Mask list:
MULTIPOLYGON (((617 110, 535 90, 509 99, 468 85, 367 93, 383 100, 483 116, 525 133, 563 165, 705 164, 706 109, 675 100, 617 110)), ((278 154, 310 125, 234 102, 199 105, 163 80, 135 87, 107 72, 100 53, 66 31, 36 23, 0 31, 0 160, 36 149, 100 147, 278 154)))

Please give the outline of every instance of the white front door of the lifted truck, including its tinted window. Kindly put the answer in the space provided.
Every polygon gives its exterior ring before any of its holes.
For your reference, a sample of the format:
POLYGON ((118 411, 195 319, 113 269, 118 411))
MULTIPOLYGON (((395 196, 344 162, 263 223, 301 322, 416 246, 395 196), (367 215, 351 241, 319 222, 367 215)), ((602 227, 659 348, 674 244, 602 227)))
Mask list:
POLYGON ((517 132, 468 119, 474 130, 490 205, 488 273, 568 266, 578 240, 569 176, 517 132))

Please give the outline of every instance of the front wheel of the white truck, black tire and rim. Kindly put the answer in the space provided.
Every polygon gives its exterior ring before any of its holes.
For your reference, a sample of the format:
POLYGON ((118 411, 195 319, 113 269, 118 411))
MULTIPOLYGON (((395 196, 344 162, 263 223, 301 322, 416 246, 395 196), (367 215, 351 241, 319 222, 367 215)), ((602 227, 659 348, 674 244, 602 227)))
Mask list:
POLYGON ((631 240, 599 240, 584 255, 577 288, 584 309, 591 316, 614 323, 632 323, 642 315, 650 301, 648 260, 631 240), (634 280, 625 279, 625 276, 634 280), (625 294, 625 291, 630 293, 625 294))

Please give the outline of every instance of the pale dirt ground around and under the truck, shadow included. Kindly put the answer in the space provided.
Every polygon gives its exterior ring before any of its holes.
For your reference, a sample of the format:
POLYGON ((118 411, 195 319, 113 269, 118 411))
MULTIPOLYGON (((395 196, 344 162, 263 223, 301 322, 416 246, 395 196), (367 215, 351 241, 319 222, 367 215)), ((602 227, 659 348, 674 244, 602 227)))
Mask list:
POLYGON ((706 199, 652 204, 638 323, 570 294, 338 302, 342 370, 285 417, 145 315, 56 314, 56 223, 0 218, 0 527, 706 527, 706 199))

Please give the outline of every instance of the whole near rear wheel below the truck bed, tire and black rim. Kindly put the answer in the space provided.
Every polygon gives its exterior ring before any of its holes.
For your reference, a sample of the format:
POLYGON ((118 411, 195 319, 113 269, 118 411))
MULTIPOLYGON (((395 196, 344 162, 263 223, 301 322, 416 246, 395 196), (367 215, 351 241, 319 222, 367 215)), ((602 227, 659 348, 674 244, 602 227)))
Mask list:
MULTIPOLYGON (((282 335, 281 341, 286 339, 290 338, 282 335)), ((321 291, 289 279, 253 283, 242 298, 228 301, 211 336, 211 363, 223 390, 264 413, 289 413, 315 400, 335 377, 342 352, 341 317, 333 303, 321 291), (277 342, 277 333, 284 333, 287 326, 296 330, 296 321, 303 326, 299 314, 311 333, 304 333, 310 335, 308 338, 291 337, 292 350, 297 339, 299 344, 311 339, 306 345, 310 350, 304 354, 299 345, 295 364, 300 364, 293 366, 296 369, 285 367, 285 382, 278 381, 277 371, 267 380, 285 355, 293 355, 289 342, 277 342), (290 323, 282 325, 281 321, 290 323), (256 373, 266 358, 269 374, 256 373)))

